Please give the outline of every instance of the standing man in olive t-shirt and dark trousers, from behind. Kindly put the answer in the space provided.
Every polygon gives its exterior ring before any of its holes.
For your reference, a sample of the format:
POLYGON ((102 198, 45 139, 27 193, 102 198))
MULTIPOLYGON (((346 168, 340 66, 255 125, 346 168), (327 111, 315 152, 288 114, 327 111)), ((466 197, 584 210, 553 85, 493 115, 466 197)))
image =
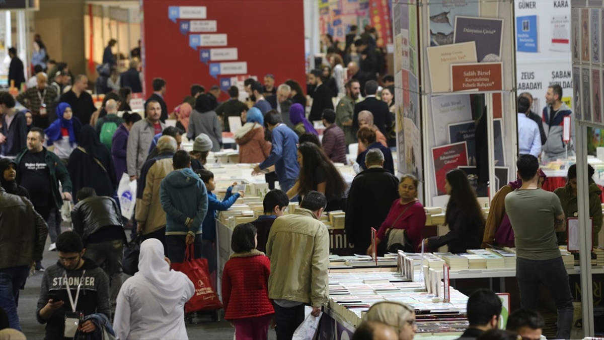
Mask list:
POLYGON ((538 188, 539 162, 535 156, 521 155, 516 166, 522 186, 506 196, 506 212, 516 242, 520 304, 535 310, 539 283, 544 284, 558 310, 556 339, 570 339, 573 296, 556 238, 556 232, 566 230, 564 212, 553 192, 538 188))

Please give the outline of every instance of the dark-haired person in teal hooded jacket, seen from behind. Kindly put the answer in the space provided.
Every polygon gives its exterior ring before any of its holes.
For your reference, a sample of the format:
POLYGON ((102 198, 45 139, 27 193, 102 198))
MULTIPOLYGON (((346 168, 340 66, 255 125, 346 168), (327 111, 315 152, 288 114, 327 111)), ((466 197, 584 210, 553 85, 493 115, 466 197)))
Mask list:
POLYGON ((176 151, 172 166, 175 171, 161 181, 159 200, 166 215, 166 255, 172 263, 182 263, 190 244, 194 244, 194 258, 202 257, 201 225, 208 212, 208 191, 190 169, 187 151, 176 151))

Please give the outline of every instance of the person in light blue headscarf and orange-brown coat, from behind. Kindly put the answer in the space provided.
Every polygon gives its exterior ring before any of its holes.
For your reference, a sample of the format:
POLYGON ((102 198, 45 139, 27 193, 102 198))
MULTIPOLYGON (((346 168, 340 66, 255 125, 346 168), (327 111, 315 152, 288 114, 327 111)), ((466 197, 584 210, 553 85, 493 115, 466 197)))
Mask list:
POLYGON ((239 145, 239 163, 260 163, 271 154, 271 142, 265 139, 264 118, 258 108, 243 111, 241 120, 245 124, 234 136, 239 145))

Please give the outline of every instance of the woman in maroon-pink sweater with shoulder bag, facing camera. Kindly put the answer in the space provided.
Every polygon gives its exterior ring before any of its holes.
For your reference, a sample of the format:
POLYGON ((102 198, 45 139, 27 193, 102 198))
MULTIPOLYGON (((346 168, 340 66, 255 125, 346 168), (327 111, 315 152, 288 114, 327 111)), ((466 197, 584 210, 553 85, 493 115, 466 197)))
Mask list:
MULTIPOLYGON (((406 174, 400 178, 399 195, 392 203, 390 212, 384 223, 377 230, 376 244, 380 244, 390 228, 404 229, 405 238, 419 250, 423 240, 423 227, 426 224, 426 212, 422 203, 417 200, 417 185, 419 181, 414 175, 406 174)), ((367 255, 371 255, 373 247, 367 249, 367 255)), ((379 254, 380 255, 380 254, 379 254)))

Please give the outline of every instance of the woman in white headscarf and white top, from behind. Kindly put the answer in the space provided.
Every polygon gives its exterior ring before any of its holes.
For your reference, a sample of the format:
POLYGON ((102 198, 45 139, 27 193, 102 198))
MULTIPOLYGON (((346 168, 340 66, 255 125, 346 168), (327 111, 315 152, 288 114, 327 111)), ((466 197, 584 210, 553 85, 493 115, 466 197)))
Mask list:
POLYGON ((188 339, 184 305, 195 289, 187 275, 170 270, 164 246, 141 243, 138 272, 121 286, 115 308, 118 339, 188 339))

